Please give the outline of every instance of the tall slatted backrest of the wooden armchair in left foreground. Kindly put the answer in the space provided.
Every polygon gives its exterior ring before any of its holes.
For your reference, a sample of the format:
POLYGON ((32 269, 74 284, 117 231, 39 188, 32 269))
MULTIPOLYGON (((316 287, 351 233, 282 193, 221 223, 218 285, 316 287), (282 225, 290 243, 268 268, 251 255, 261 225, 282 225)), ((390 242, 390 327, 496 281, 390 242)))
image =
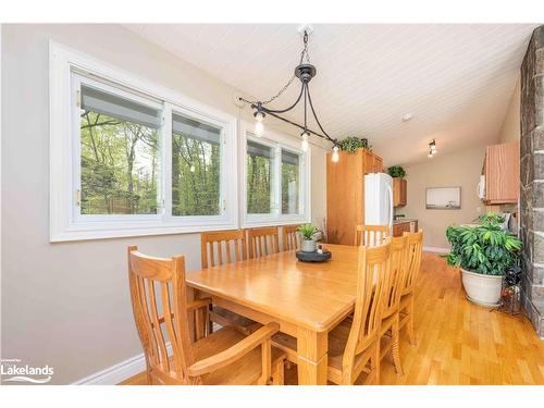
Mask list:
POLYGON ((146 364, 156 383, 194 384, 187 367, 194 362, 187 321, 185 258, 153 258, 128 247, 128 281, 136 329, 146 364), (166 344, 172 346, 172 356, 166 344))

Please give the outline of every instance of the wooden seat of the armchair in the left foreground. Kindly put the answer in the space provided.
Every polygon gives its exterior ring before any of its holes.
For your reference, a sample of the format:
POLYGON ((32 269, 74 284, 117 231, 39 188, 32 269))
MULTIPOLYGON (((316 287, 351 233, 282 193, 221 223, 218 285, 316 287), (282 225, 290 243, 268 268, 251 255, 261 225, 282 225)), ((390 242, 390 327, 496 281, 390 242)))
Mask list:
MULTIPOLYGON (((228 347, 243 341, 246 336, 239 333, 235 327, 221 327, 208 337, 203 337, 193 344, 193 354, 195 360, 214 356, 218 353, 226 350, 228 347)), ((236 360, 212 373, 202 375, 202 382, 209 385, 247 385, 255 383, 261 376, 261 347, 256 347, 246 356, 236 360)), ((282 362, 285 354, 272 347, 272 367, 282 362)))

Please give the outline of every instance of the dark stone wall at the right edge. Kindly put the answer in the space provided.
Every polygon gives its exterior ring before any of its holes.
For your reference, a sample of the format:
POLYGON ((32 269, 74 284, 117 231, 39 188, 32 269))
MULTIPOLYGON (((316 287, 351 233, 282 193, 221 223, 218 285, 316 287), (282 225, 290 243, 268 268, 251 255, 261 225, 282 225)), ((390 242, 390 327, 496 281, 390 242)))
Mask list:
POLYGON ((520 143, 523 301, 544 338, 544 25, 533 32, 521 64, 520 143))

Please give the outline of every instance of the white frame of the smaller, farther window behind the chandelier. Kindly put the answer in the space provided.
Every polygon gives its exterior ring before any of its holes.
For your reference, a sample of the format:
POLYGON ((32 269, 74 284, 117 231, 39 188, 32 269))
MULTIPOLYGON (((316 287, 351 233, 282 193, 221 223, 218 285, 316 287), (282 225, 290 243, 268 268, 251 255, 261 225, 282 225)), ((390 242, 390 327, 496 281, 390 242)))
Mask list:
POLYGON ((288 225, 296 223, 310 222, 310 169, 311 169, 311 147, 308 151, 304 152, 300 149, 299 140, 292 136, 267 129, 261 137, 257 137, 251 125, 248 122, 242 124, 242 144, 238 151, 239 174, 243 174, 240 180, 240 220, 243 227, 254 226, 274 226, 274 225, 288 225), (252 140, 264 146, 270 146, 274 149, 274 174, 273 185, 273 211, 269 214, 249 214, 247 213, 247 140, 252 140), (299 213, 298 214, 283 214, 282 213, 282 149, 299 156, 299 213))

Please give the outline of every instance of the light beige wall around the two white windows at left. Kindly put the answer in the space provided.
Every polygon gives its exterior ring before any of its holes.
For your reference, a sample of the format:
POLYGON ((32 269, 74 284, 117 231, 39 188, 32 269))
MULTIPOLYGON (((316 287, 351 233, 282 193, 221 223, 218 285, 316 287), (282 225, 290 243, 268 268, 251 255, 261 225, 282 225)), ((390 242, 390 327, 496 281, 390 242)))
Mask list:
MULTIPOLYGON (((125 250, 185 254, 197 234, 49 244, 48 40, 236 113, 234 89, 116 25, 2 26, 2 356, 70 383, 141 353, 125 250), (5 102, 9 101, 9 102, 5 102)), ((246 110, 247 114, 247 110, 246 110)), ((312 149, 312 218, 325 217, 325 153, 312 149)))

